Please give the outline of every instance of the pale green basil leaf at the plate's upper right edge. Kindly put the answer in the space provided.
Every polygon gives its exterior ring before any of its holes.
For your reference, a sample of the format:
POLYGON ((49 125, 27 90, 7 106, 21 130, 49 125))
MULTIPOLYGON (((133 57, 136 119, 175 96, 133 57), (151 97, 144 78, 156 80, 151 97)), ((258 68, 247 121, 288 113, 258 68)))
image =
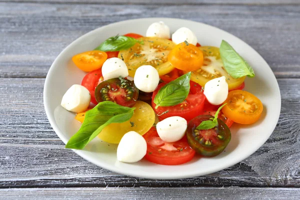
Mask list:
POLYGON ((219 51, 227 73, 233 78, 255 76, 252 67, 225 40, 222 40, 219 51))

